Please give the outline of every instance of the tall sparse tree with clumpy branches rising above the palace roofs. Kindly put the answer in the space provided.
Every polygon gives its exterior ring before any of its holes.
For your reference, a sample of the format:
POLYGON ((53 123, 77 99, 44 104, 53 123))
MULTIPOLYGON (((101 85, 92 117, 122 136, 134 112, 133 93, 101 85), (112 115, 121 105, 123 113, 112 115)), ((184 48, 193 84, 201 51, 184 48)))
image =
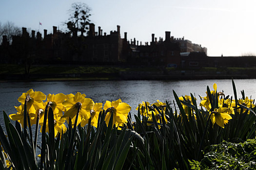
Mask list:
POLYGON ((89 17, 91 8, 87 4, 82 2, 76 2, 71 5, 69 10, 69 19, 65 24, 73 36, 78 36, 78 32, 83 35, 89 28, 89 22, 91 21, 89 17))

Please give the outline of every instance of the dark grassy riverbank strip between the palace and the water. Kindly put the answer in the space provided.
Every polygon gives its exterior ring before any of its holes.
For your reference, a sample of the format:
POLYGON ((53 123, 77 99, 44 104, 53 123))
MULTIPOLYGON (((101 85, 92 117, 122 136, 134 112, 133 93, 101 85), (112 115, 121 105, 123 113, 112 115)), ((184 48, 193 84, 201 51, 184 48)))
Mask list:
POLYGON ((256 68, 159 68, 127 66, 0 65, 0 81, 255 79, 256 68))

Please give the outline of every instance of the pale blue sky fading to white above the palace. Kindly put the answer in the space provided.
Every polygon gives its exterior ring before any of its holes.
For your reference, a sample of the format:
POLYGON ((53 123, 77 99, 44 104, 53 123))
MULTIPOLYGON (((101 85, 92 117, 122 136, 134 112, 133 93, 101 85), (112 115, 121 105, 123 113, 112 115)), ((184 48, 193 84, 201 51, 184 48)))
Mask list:
MULTIPOLYGON (((0 23, 52 33, 65 30, 71 4, 78 0, 1 0, 0 23), (39 22, 42 25, 39 26, 39 22)), ((151 34, 192 41, 208 56, 256 55, 256 0, 80 0, 91 8, 91 22, 103 33, 117 30, 128 40, 150 42, 151 34)))

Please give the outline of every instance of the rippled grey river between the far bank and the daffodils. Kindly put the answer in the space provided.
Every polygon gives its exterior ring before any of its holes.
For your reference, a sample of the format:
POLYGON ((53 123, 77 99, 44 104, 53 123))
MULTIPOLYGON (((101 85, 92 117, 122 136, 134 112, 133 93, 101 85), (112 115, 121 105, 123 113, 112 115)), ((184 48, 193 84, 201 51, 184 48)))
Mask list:
MULTIPOLYGON (((241 98, 240 91, 243 89, 246 96, 256 98, 256 79, 234 81, 238 98, 241 98)), ((120 98, 122 102, 132 107, 131 114, 134 115, 137 114, 138 103, 142 101, 150 103, 157 100, 168 101, 173 105, 173 90, 178 96, 195 94, 199 101, 198 95, 204 97, 207 85, 213 90, 214 83, 217 84, 217 91, 223 90, 225 95, 234 96, 232 80, 7 82, 0 83, 0 110, 4 110, 7 114, 16 113, 14 106, 20 105, 17 99, 23 92, 33 88, 45 95, 75 94, 79 91, 94 102, 102 102, 103 105, 106 100, 116 101, 120 98)), ((0 124, 3 124, 2 113, 0 113, 0 124)))

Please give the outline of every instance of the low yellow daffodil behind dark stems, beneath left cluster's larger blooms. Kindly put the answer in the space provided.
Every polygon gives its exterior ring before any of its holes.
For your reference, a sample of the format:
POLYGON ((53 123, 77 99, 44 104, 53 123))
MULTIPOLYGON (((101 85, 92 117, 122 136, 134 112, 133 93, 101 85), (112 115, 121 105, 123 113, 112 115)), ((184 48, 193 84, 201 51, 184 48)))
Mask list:
MULTIPOLYGON (((66 126, 64 124, 66 119, 65 118, 61 118, 61 116, 59 114, 55 114, 55 115, 53 115, 53 117, 54 117, 54 136, 57 137, 58 132, 61 134, 61 132, 63 130, 63 134, 64 134, 67 131, 67 128, 66 128, 66 126)), ((40 122, 39 125, 41 126, 40 132, 42 132, 43 122, 40 122)), ((45 132, 49 132, 48 119, 46 121, 45 132)))

